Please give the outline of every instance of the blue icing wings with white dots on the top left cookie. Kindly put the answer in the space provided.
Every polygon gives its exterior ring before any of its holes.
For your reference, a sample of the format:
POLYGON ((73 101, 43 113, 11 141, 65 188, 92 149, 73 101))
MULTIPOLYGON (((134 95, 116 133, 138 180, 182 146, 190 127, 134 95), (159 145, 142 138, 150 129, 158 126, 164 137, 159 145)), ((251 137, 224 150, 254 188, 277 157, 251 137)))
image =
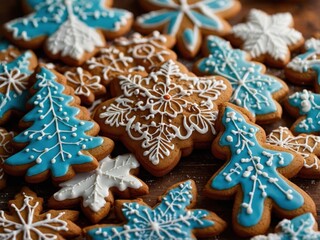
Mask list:
POLYGON ((124 19, 131 16, 126 10, 104 8, 102 0, 28 0, 27 3, 36 12, 6 24, 7 29, 13 30, 15 38, 24 40, 50 36, 72 16, 88 26, 108 31, 118 30, 124 19))

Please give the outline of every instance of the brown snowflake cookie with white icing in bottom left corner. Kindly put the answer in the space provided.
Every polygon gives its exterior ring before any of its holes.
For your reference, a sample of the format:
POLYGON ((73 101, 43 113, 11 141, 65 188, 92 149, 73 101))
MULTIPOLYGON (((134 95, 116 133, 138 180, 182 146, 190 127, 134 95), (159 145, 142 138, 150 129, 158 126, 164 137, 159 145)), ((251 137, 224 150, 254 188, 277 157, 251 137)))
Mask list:
POLYGON ((81 234, 74 221, 77 211, 49 210, 42 213, 43 199, 24 187, 14 200, 9 201, 10 212, 0 210, 0 239, 59 239, 81 234))

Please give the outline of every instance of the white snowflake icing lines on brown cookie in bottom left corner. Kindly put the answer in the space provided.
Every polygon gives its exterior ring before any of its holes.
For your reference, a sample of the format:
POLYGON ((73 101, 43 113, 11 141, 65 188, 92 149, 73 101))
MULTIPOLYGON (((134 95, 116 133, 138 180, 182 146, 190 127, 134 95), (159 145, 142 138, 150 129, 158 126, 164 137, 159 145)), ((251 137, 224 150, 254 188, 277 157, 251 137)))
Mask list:
POLYGON ((24 200, 21 208, 18 208, 14 203, 10 205, 10 208, 18 216, 18 221, 12 221, 11 218, 7 218, 5 212, 0 210, 0 227, 4 230, 0 233, 0 239, 29 240, 33 239, 31 234, 35 234, 36 239, 54 240, 58 239, 58 236, 54 233, 46 233, 46 229, 56 232, 68 231, 67 222, 61 220, 65 212, 60 212, 55 217, 48 213, 44 220, 37 221, 35 214, 39 214, 37 209, 40 202, 32 204, 33 197, 28 196, 26 193, 23 193, 23 196, 24 200))

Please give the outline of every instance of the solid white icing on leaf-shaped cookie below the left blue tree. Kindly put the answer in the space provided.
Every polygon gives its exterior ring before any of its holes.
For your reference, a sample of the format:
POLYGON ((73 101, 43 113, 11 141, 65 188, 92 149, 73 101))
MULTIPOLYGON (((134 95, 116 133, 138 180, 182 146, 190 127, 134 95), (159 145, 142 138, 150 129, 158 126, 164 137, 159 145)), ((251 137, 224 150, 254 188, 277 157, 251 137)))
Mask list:
POLYGON ((106 199, 113 187, 124 191, 127 188, 138 189, 142 183, 130 174, 139 163, 132 154, 109 156, 99 162, 99 167, 91 172, 77 174, 73 179, 60 184, 61 190, 54 194, 58 201, 82 198, 83 206, 99 212, 107 203, 106 199))

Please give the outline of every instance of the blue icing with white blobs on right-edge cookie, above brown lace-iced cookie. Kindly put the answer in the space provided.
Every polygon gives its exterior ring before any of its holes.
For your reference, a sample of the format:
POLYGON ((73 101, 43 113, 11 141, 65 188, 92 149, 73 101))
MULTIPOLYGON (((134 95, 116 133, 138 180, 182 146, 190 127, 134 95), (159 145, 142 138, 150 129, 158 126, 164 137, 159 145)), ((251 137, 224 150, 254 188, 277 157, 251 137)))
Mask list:
POLYGON ((295 123, 294 131, 296 133, 320 132, 320 94, 303 90, 289 96, 288 103, 299 109, 301 116, 305 116, 295 123))

